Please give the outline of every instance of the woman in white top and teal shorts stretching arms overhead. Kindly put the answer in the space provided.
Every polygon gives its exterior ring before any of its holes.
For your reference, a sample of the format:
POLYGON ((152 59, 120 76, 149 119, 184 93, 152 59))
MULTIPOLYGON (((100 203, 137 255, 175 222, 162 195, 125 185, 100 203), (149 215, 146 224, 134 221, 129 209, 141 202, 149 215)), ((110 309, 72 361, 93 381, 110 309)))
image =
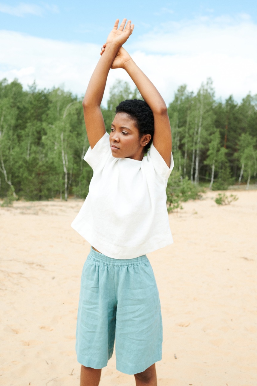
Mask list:
POLYGON ((137 386, 156 386, 162 318, 145 254, 172 243, 166 207, 171 128, 161 95, 122 47, 134 25, 124 19, 118 28, 118 22, 83 100, 90 143, 84 159, 93 178, 71 226, 92 248, 81 278, 76 352, 81 386, 98 386, 114 339, 117 370, 134 374, 137 386), (108 135, 100 104, 110 68, 125 69, 144 101, 121 102, 108 135))

